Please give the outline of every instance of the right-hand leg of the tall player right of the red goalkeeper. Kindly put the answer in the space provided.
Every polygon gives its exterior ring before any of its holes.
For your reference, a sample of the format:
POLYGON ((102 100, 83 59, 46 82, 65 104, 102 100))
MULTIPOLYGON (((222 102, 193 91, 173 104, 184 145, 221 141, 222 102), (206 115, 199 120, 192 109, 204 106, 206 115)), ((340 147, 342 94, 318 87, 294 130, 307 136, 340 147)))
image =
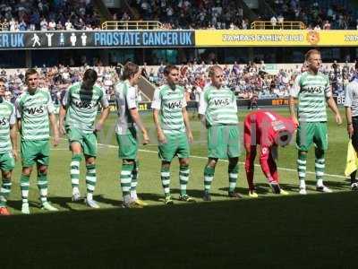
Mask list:
POLYGON ((328 134, 326 123, 317 123, 315 128, 315 135, 313 138, 313 142, 316 144, 316 148, 314 151, 314 168, 316 171, 317 180, 316 189, 320 192, 331 193, 332 191, 323 184, 323 176, 326 167, 325 152, 328 150, 327 138, 328 134))

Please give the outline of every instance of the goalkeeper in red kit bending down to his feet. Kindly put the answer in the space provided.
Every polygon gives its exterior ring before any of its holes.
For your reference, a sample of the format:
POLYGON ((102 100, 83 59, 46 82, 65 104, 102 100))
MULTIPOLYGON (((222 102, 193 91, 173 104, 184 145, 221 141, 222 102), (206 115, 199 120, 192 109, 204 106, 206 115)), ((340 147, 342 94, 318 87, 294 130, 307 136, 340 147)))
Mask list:
POLYGON ((274 194, 288 195, 279 186, 278 172, 275 159, 277 146, 286 146, 294 134, 294 122, 286 117, 268 110, 258 110, 248 114, 243 123, 243 143, 246 150, 245 170, 249 184, 249 195, 257 197, 253 184, 254 161, 256 147, 260 145, 260 166, 268 178, 268 183, 274 194))

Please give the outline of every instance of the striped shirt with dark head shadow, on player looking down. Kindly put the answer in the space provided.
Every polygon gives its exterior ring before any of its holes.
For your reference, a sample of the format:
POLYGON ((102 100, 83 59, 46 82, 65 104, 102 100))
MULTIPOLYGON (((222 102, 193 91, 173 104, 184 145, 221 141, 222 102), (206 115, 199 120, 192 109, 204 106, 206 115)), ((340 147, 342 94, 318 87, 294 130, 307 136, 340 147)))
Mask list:
POLYGON ((92 91, 81 89, 81 82, 73 83, 66 93, 62 104, 67 108, 65 128, 77 128, 85 134, 94 131, 98 105, 108 107, 105 91, 98 85, 93 86, 92 91))

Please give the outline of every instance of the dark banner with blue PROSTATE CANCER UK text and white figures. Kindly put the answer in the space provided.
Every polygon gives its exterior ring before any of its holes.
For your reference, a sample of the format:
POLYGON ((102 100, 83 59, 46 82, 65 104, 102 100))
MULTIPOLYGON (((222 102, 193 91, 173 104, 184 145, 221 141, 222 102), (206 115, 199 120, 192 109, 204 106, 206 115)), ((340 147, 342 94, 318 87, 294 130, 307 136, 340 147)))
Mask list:
POLYGON ((0 49, 194 47, 193 30, 0 32, 0 49))

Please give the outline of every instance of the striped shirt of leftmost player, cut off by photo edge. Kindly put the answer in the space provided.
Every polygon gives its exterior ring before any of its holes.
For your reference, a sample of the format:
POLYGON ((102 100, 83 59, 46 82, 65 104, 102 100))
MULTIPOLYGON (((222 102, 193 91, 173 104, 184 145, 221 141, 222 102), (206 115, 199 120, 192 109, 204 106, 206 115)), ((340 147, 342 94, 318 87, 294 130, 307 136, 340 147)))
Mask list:
POLYGON ((13 150, 10 140, 10 126, 16 122, 15 108, 7 100, 0 100, 0 154, 13 150))

